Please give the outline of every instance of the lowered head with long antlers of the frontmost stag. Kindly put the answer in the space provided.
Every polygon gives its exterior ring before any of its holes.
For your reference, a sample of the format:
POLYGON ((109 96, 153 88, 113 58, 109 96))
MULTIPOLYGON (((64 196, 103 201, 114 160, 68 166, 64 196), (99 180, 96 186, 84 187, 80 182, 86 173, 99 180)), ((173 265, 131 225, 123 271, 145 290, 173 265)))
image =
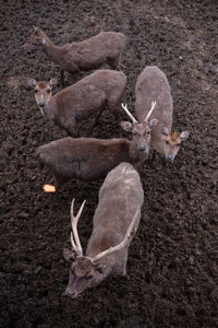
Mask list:
POLYGON ((110 272, 109 268, 104 265, 105 256, 116 253, 125 247, 132 234, 134 234, 134 225, 137 219, 138 210, 136 211, 133 220, 131 221, 130 226, 126 230, 123 241, 117 246, 110 247, 95 257, 88 257, 83 255, 83 249, 77 234, 77 221, 81 216, 85 204, 85 200, 82 203, 77 214, 74 216, 74 199, 71 204, 71 223, 72 223, 72 233, 71 233, 71 244, 72 249, 64 248, 63 257, 66 261, 71 262, 70 268, 70 278, 69 284, 63 293, 72 298, 75 298, 80 293, 85 289, 90 288, 94 284, 98 284, 104 280, 110 272), (101 260, 101 261, 100 261, 101 260))

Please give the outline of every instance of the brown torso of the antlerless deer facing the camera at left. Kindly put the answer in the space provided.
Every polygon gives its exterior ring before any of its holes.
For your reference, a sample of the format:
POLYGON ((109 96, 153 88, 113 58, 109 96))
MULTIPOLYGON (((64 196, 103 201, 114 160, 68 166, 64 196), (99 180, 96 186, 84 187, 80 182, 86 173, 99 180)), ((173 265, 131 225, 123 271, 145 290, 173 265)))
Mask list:
POLYGON ((125 85, 126 77, 123 72, 98 70, 52 97, 55 120, 68 126, 70 118, 76 120, 88 117, 110 104, 111 98, 118 105, 125 85))

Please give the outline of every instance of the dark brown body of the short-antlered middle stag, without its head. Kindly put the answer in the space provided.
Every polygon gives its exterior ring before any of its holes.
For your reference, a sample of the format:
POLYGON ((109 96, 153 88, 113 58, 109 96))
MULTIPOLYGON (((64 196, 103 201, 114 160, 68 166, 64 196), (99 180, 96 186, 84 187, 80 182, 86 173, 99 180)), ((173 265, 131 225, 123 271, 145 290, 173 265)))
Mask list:
POLYGON ((130 161, 130 141, 66 137, 39 147, 37 154, 56 177, 95 180, 130 161))

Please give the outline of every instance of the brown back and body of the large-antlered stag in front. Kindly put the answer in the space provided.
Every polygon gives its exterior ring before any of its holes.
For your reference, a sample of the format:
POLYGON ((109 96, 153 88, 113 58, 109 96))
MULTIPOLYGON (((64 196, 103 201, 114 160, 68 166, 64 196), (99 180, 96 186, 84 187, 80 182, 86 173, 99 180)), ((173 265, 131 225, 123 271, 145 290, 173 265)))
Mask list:
MULTIPOLYGON (((93 233, 86 254, 93 257, 121 243, 138 210, 134 227, 136 231, 143 200, 144 191, 140 175, 133 166, 129 163, 121 163, 113 168, 107 175, 99 191, 98 207, 93 220, 93 233)), ((124 250, 126 251, 126 248, 124 250)), ((116 266, 120 261, 121 254, 123 254, 123 249, 106 256, 104 261, 112 261, 116 266)))

